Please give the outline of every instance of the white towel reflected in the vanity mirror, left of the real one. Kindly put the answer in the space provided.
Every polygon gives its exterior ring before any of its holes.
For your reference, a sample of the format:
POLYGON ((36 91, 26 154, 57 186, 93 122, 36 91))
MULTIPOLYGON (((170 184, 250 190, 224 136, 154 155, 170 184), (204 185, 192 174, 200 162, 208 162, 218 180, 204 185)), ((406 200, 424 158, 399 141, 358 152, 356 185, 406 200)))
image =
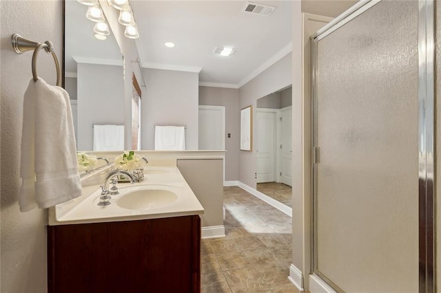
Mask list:
POLYGON ((124 125, 94 124, 94 151, 123 151, 124 125))

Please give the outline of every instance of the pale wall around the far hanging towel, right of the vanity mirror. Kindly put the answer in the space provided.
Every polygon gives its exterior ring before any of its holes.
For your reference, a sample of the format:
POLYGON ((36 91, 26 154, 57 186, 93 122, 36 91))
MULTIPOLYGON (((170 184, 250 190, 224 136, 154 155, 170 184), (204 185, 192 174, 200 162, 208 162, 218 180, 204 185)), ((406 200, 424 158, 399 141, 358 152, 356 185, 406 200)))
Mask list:
POLYGON ((198 149, 198 74, 144 69, 141 149, 154 149, 154 125, 186 126, 185 148, 198 149))

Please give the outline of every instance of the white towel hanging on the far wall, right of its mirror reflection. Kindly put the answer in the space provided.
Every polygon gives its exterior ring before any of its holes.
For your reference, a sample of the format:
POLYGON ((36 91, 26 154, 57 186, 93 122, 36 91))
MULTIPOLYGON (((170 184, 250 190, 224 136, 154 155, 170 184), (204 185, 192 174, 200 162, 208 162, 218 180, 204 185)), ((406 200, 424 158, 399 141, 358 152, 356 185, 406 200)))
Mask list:
POLYGON ((154 149, 156 151, 185 150, 185 127, 183 126, 154 127, 154 149))

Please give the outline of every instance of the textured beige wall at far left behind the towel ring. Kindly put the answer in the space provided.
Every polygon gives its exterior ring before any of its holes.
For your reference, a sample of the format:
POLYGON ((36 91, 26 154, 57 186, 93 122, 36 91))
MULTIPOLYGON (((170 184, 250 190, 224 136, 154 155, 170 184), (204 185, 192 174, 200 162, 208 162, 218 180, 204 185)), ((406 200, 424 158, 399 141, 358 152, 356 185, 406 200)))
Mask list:
MULTIPOLYGON (((17 197, 23 94, 30 78, 32 52, 15 54, 10 43, 18 33, 33 41, 54 43, 61 63, 61 1, 0 1, 1 11, 1 292, 46 292, 45 210, 20 213, 17 197)), ((54 61, 39 53, 38 73, 54 85, 54 61)))

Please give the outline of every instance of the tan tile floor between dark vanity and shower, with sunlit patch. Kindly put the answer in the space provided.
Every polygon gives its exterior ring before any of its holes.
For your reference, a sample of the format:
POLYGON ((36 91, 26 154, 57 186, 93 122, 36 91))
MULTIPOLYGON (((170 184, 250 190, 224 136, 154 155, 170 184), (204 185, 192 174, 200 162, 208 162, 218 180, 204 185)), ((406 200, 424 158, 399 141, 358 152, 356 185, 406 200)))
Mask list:
POLYGON ((226 237, 201 243, 202 292, 298 292, 287 279, 291 217, 236 186, 224 204, 226 237))

